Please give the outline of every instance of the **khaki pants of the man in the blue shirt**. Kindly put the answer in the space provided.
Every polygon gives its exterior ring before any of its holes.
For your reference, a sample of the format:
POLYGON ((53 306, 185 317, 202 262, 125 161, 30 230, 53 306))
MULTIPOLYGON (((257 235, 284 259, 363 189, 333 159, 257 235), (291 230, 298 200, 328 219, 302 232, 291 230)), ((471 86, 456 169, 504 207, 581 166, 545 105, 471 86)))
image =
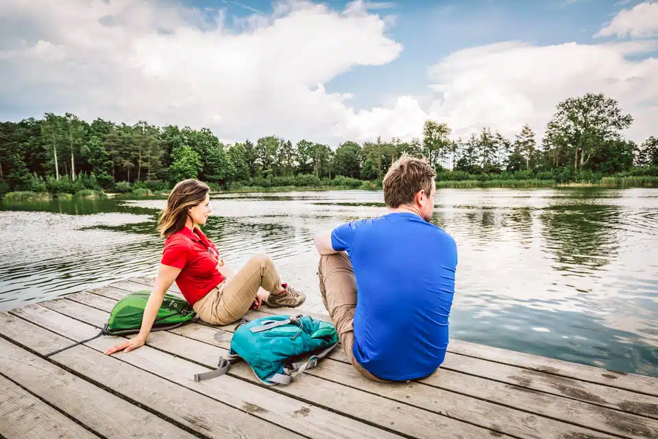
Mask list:
POLYGON ((352 348, 354 346, 354 310, 356 309, 356 277, 350 257, 345 252, 326 254, 320 257, 317 268, 320 294, 324 307, 329 311, 331 321, 336 327, 345 355, 352 366, 367 379, 387 382, 375 377, 361 364, 358 364, 352 348))

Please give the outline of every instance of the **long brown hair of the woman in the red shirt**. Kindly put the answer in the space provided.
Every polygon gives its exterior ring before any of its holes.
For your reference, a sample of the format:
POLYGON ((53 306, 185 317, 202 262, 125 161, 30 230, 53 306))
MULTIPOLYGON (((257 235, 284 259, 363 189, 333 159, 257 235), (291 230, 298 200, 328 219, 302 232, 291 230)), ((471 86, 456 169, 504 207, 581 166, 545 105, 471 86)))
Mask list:
POLYGON ((193 178, 178 182, 169 193, 167 206, 160 212, 160 235, 166 239, 183 230, 187 221, 187 209, 205 201, 209 190, 205 183, 193 178))

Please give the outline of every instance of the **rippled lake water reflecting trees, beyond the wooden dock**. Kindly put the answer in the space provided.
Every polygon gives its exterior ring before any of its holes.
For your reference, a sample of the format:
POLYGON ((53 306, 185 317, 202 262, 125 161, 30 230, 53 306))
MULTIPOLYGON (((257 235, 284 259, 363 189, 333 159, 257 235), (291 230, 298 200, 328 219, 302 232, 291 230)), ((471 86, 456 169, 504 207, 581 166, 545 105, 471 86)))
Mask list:
MULTIPOLYGON (((450 336, 658 377, 658 189, 444 189, 457 242, 450 336)), ((155 275, 165 200, 0 207, 0 309, 155 275)), ((315 233, 385 213, 380 191, 213 195, 204 231, 239 268, 269 254, 324 311, 315 233)))

